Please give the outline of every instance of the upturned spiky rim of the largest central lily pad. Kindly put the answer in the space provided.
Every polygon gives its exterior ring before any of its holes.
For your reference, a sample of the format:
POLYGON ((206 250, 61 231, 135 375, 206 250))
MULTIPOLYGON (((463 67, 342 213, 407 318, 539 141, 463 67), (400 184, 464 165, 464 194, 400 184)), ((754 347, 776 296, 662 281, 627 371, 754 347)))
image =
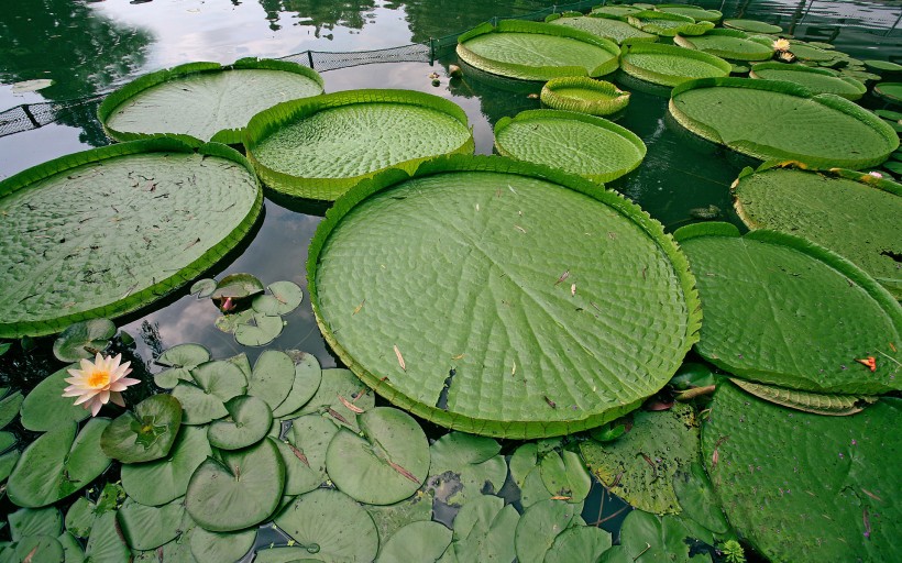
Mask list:
POLYGON ((698 292, 695 288, 695 277, 689 269, 689 260, 682 251, 680 251, 673 236, 664 232, 661 223, 652 219, 651 216, 649 216, 632 201, 626 199, 616 191, 601 189, 596 184, 581 178, 580 176, 568 174, 547 166, 514 161, 499 156, 450 155, 424 162, 413 175, 400 169, 389 169, 381 173, 372 179, 356 185, 344 196, 336 200, 336 205, 327 211, 326 219, 319 224, 314 239, 310 241, 307 257, 307 290, 310 296, 310 303, 314 309, 314 314, 316 316, 317 324, 322 332, 323 339, 326 339, 326 342, 329 343, 332 351, 358 377, 363 380, 363 383, 392 401, 395 406, 437 424, 475 434, 527 440, 532 438, 560 435, 604 424, 605 422, 626 415, 630 410, 638 407, 642 399, 639 399, 634 404, 624 405, 620 408, 610 409, 584 419, 558 422, 499 422, 496 420, 476 419, 454 415, 443 409, 438 409, 419 402, 399 393, 397 389, 389 387, 389 385, 377 374, 369 372, 365 366, 358 363, 356 360, 348 353, 348 351, 344 350, 341 343, 336 339, 331 327, 326 321, 320 310, 319 290, 316 282, 320 253, 322 252, 322 247, 329 239, 329 235, 336 227, 338 227, 344 216, 351 212, 353 208, 363 202, 370 196, 411 178, 420 178, 451 172, 497 172, 551 181, 601 201, 632 221, 658 243, 661 252, 668 257, 668 260, 670 260, 673 266, 674 275, 680 280, 683 297, 686 301, 689 318, 686 319, 686 331, 683 346, 681 350, 674 351, 674 358, 678 358, 678 363, 679 360, 682 358, 692 347, 692 345, 698 341, 702 328, 702 308, 698 299, 698 292))

